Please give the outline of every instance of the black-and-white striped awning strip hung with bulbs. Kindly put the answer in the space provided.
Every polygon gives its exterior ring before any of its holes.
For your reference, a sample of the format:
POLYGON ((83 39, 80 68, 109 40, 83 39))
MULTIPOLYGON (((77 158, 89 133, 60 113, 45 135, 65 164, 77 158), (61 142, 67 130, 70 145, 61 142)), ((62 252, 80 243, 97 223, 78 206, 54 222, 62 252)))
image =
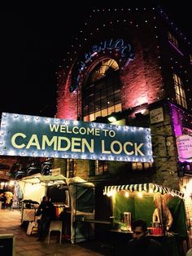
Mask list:
POLYGON ((184 194, 180 191, 166 188, 154 183, 141 183, 141 184, 128 184, 128 185, 115 185, 115 186, 105 186, 103 194, 110 194, 111 192, 120 192, 120 190, 129 190, 130 192, 151 192, 151 193, 161 193, 170 194, 172 196, 184 197, 184 194))

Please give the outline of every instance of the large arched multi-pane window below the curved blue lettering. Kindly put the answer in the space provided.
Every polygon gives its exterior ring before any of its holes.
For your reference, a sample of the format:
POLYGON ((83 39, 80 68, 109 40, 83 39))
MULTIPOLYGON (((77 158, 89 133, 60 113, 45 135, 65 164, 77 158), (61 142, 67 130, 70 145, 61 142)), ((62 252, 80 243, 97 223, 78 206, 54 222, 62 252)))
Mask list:
POLYGON ((83 87, 82 107, 84 121, 121 111, 120 70, 116 60, 100 60, 89 71, 83 87))

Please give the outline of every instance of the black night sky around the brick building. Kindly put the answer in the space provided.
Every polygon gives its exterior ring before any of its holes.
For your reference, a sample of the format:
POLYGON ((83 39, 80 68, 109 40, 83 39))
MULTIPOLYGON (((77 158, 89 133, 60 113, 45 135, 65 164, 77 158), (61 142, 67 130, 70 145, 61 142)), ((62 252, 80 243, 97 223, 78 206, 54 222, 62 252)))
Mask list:
MULTIPOLYGON (((160 3, 191 40, 190 3, 185 0, 155 2, 160 3)), ((120 7, 129 7, 129 2, 120 7)), ((79 24, 83 24, 85 16, 93 8, 74 3, 49 8, 48 11, 30 7, 24 11, 14 8, 0 11, 0 115, 8 112, 54 117, 57 97, 55 72, 72 38, 78 33, 79 24)))

